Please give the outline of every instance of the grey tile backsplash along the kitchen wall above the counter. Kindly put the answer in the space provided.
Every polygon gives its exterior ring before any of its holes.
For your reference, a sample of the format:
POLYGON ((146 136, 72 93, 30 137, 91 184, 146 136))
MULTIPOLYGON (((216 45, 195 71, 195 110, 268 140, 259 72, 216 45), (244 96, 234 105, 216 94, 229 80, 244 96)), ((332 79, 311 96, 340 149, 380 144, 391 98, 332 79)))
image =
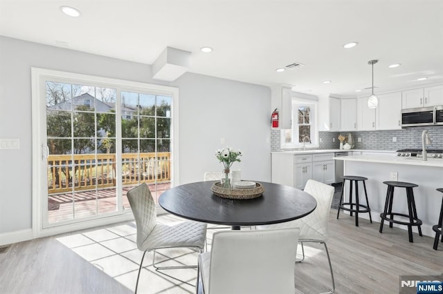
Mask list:
MULTIPOLYGON (((402 130, 370 130, 354 132, 319 132, 321 138, 319 149, 338 149, 338 135, 352 133, 355 141, 354 149, 367 150, 398 150, 406 148, 422 148, 422 132, 428 130, 432 144, 428 149, 443 149, 443 126, 426 126, 405 128, 402 130), (335 139, 335 142, 332 139, 335 139), (361 141, 359 142, 359 138, 361 141), (396 140, 394 142, 394 140, 396 140)), ((271 150, 280 149, 280 130, 271 130, 271 150)))

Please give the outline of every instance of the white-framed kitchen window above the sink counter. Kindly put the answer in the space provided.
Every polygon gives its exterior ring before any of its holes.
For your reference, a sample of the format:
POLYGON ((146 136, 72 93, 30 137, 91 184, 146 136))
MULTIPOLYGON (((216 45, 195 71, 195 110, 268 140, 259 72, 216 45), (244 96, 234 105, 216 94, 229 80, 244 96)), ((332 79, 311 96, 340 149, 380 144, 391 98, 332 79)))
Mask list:
POLYGON ((292 128, 281 130, 281 148, 318 147, 316 101, 292 100, 292 128))

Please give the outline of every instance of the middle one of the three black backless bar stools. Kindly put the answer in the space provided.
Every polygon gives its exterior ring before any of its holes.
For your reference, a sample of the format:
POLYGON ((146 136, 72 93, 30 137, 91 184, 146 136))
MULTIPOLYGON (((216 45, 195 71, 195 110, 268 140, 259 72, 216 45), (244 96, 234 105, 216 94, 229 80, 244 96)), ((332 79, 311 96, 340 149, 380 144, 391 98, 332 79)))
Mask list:
POLYGON ((418 187, 417 184, 406 183, 406 182, 396 182, 387 181, 383 184, 388 185, 388 191, 386 193, 386 202, 383 213, 380 213, 380 233, 383 233, 383 222, 386 220, 389 222, 389 227, 392 228, 392 224, 404 224, 408 226, 409 242, 414 242, 413 240, 413 228, 412 226, 417 226, 418 233, 422 236, 422 220, 417 217, 417 208, 415 208, 415 199, 413 188, 418 187), (394 188, 406 188, 406 201, 408 202, 408 215, 404 213, 392 213, 392 202, 394 201, 394 188), (402 222, 400 220, 395 220, 394 215, 401 217, 408 217, 409 222, 402 222))

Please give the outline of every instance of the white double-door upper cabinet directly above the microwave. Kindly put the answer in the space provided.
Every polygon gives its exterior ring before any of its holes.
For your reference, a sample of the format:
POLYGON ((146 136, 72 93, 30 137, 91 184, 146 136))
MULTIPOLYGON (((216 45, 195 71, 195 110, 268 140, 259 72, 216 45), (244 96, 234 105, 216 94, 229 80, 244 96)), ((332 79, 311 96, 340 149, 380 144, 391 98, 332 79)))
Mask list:
POLYGON ((403 91, 401 104, 403 109, 443 105, 443 86, 403 91))

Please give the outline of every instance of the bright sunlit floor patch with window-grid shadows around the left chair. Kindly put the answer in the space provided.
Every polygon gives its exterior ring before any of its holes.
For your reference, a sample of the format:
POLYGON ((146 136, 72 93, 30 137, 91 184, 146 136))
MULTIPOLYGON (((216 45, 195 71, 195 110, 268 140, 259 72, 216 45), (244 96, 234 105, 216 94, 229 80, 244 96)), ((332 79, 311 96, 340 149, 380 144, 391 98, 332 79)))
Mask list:
MULTIPOLYGON (((163 224, 183 221, 172 215, 161 215, 157 220, 163 224)), ((213 227, 208 226, 208 250, 210 250, 209 244, 215 232, 213 227)), ((219 230, 220 228, 217 228, 217 231, 219 230)), ((136 245, 135 222, 93 228, 55 239, 129 290, 135 290, 138 266, 143 255, 136 245)), ((162 266, 197 264, 197 256, 198 253, 186 248, 163 249, 157 251, 156 262, 161 262, 162 266)), ((152 257, 153 253, 145 255, 143 261, 145 267, 141 271, 138 293, 195 293, 197 269, 155 271, 152 266, 152 257)))

